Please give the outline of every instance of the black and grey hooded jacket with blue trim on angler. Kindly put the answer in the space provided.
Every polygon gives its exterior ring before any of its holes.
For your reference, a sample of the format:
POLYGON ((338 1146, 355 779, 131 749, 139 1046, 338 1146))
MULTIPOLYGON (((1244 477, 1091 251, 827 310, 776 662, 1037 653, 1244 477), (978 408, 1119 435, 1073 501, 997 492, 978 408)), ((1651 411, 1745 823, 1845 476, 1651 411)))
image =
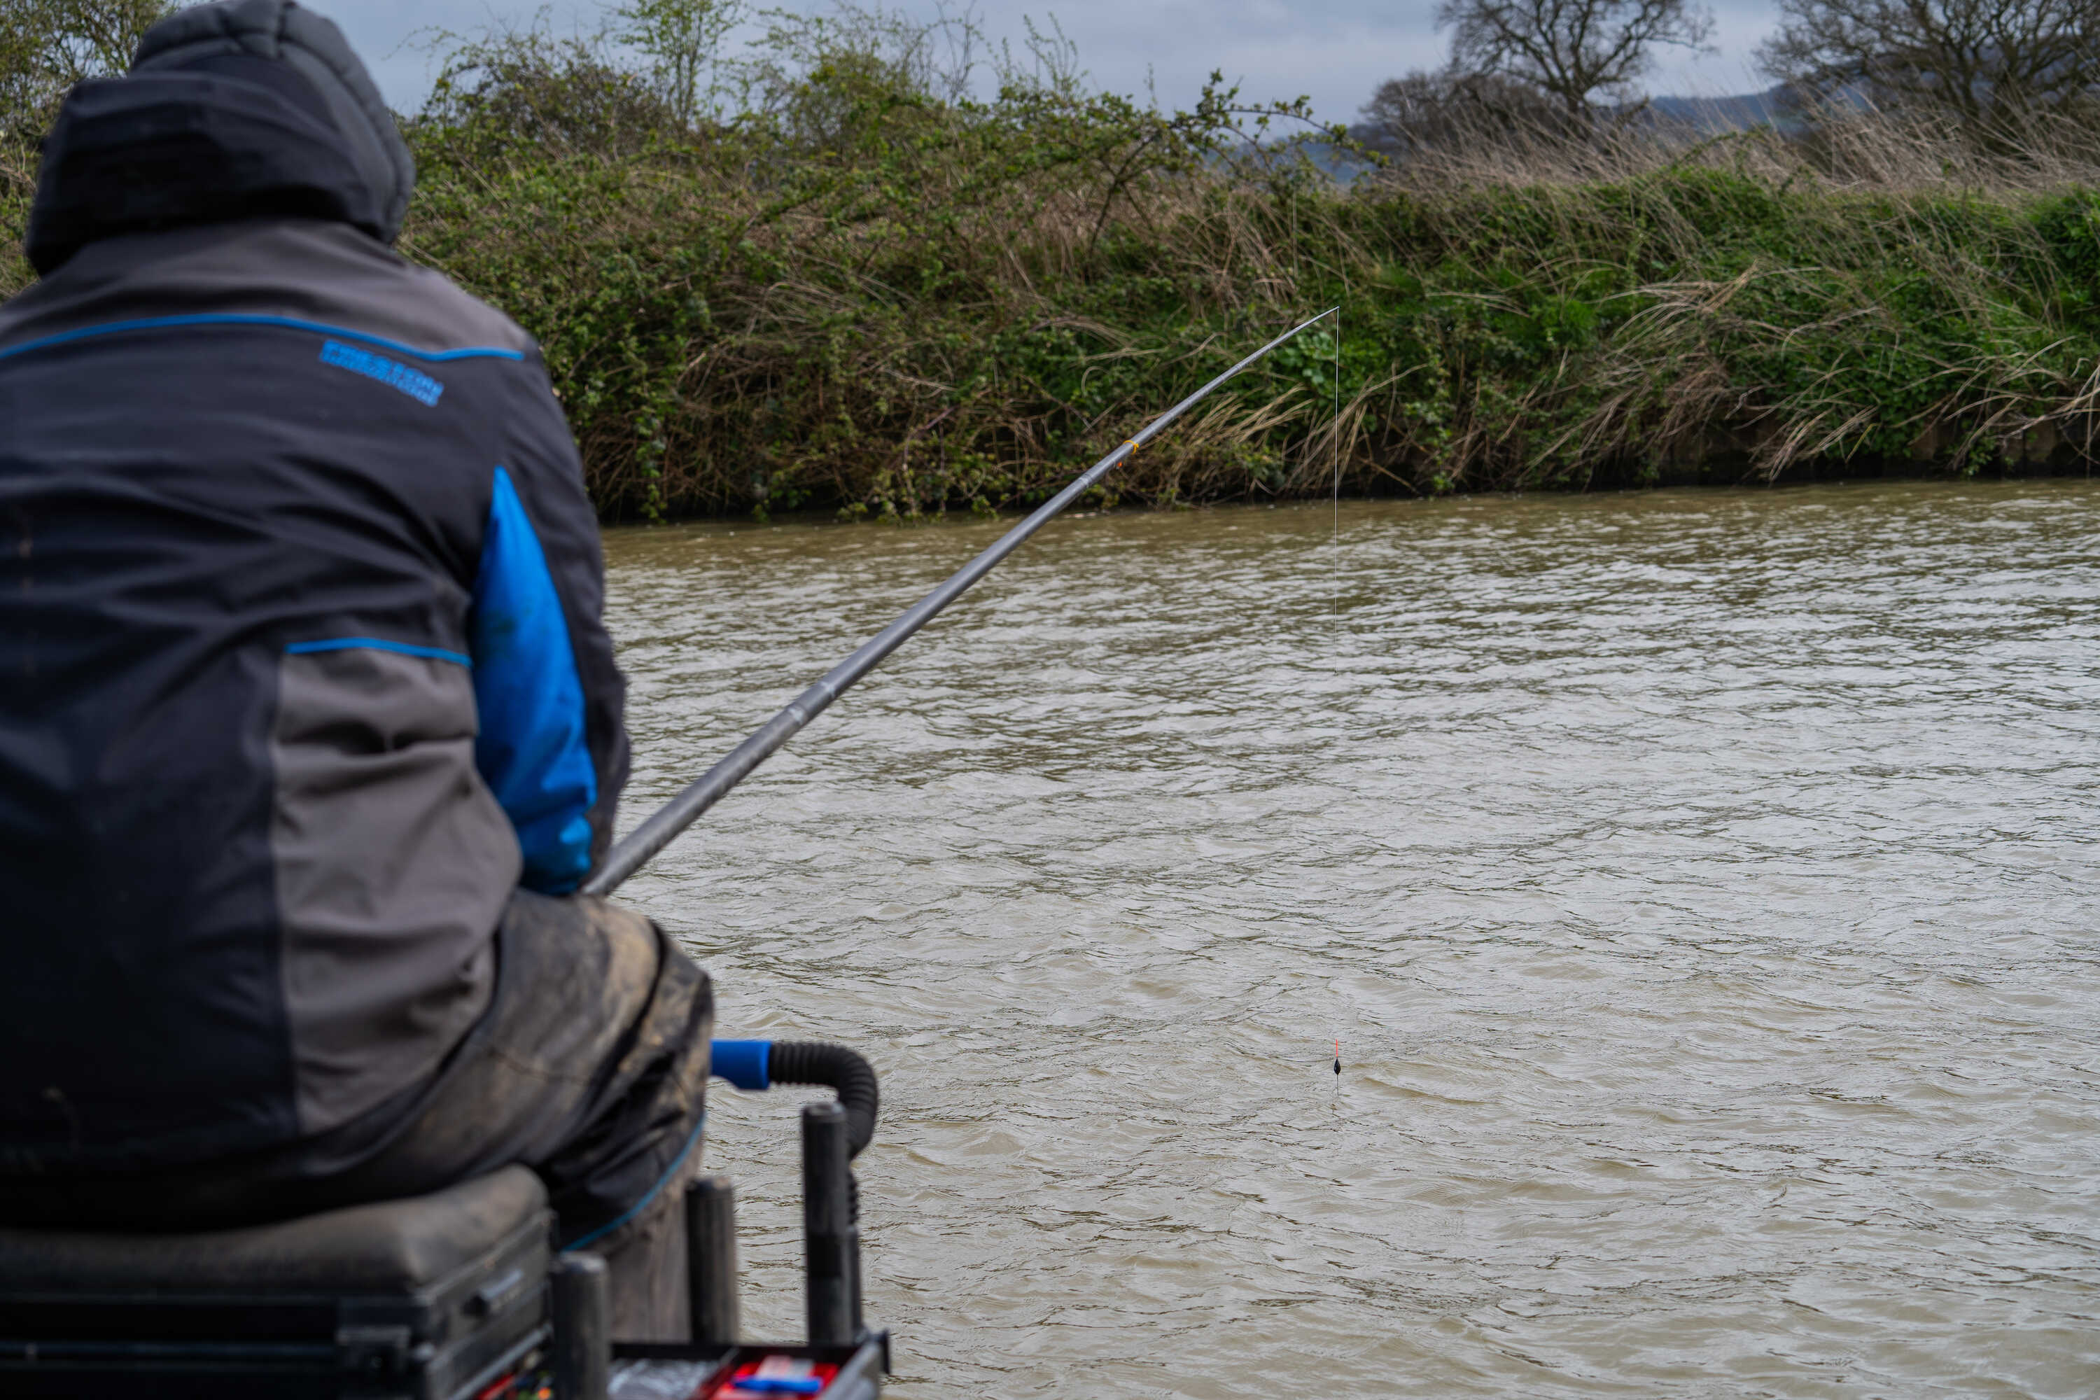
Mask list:
POLYGON ((80 84, 0 306, 0 1175, 384 1117, 626 781, 531 338, 388 243, 372 80, 290 0, 80 84))

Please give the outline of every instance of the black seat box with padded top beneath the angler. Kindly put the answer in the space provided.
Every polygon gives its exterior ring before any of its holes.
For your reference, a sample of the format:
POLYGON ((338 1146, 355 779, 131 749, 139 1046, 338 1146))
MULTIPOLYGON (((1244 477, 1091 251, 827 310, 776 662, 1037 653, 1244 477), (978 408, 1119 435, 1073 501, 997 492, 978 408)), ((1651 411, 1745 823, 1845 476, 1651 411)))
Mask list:
POLYGON ((204 1234, 0 1230, 0 1394, 470 1400, 548 1337, 523 1167, 204 1234))

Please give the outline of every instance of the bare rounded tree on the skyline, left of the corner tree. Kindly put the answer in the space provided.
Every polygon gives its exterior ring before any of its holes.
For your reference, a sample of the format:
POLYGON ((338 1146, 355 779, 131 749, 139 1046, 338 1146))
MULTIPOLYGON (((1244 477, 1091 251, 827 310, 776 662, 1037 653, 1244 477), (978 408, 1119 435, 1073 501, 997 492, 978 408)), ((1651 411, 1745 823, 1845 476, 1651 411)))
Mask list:
POLYGON ((1573 120, 1623 101, 1657 46, 1701 50, 1714 17, 1695 0, 1443 0, 1453 73, 1529 84, 1573 120))

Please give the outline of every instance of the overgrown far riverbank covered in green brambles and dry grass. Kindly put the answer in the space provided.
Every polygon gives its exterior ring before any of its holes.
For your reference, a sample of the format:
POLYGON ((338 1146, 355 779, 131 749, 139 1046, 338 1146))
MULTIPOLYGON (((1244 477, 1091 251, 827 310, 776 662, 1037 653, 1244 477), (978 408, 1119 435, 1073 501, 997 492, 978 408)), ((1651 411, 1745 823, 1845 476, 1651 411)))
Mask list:
MULTIPOLYGON (((1216 94, 934 101, 815 67, 764 120, 624 139, 527 88, 410 124, 401 248, 540 338, 609 521, 1023 506, 1327 304, 1340 338, 1273 355, 1105 502, 2094 455, 2100 195, 2058 155, 1873 118, 1835 155, 1741 134, 1338 187, 1235 155, 1216 94)), ((10 178, 10 246, 25 208, 10 178)))

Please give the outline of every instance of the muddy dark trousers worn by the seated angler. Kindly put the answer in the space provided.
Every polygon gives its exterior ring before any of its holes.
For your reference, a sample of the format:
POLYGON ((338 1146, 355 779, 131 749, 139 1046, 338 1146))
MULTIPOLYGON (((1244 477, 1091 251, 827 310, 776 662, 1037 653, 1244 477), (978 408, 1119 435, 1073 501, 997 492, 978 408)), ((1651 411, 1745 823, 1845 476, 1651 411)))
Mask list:
POLYGON ((0 1224, 214 1230, 418 1196, 523 1163, 565 1249, 611 1266, 613 1333, 685 1331, 714 991, 638 913, 521 890, 489 1010, 439 1073, 317 1138, 181 1171, 0 1178, 0 1224))

